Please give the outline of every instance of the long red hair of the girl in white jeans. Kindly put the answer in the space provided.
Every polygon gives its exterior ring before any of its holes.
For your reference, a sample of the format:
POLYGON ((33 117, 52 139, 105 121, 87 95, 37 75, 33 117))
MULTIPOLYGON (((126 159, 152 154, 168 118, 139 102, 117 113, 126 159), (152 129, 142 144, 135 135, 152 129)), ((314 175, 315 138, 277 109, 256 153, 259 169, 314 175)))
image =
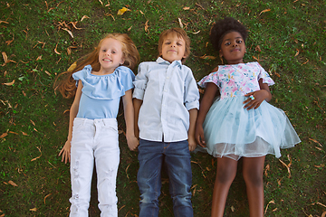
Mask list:
POLYGON ((86 65, 91 65, 93 71, 100 71, 101 64, 99 61, 99 53, 101 49, 101 42, 109 38, 121 42, 123 58, 125 60, 122 65, 129 67, 131 70, 134 69, 140 60, 139 52, 135 43, 132 42, 126 33, 109 33, 103 39, 101 39, 94 51, 77 61, 77 66, 73 69, 73 71, 64 71, 58 75, 57 79, 54 81, 54 90, 59 90, 63 98, 72 98, 77 89, 76 81, 72 78, 72 74, 76 71, 81 71, 86 65), (58 78, 62 75, 66 76, 65 79, 58 81, 58 78))

